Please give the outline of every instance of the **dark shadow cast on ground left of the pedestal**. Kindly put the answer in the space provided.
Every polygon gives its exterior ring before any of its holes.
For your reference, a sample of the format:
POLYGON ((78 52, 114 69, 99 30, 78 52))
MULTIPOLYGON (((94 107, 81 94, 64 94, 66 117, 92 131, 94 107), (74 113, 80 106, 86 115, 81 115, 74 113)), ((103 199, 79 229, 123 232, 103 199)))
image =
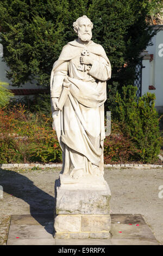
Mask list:
MULTIPOLYGON (((28 203, 30 206, 30 215, 45 227, 49 234, 53 234, 55 197, 52 197, 35 186, 33 181, 26 176, 11 170, 0 169, 0 180, 3 191, 28 203), (45 218, 42 218, 41 215, 47 215, 47 219, 51 219, 53 222, 45 223, 45 218)), ((57 184, 58 183, 55 182, 55 186, 57 186, 57 184)), ((17 214, 19 214, 19 212, 17 212, 17 214)))

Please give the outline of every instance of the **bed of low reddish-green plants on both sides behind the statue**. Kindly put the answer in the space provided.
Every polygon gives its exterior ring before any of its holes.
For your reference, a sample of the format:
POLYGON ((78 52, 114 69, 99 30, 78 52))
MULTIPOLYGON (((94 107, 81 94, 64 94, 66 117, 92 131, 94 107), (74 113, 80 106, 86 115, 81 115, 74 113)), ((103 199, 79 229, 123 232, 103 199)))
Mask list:
MULTIPOLYGON (((104 163, 145 163, 141 149, 123 123, 111 122, 111 134, 104 140, 104 163)), ((52 129, 52 117, 27 111, 17 104, 0 109, 0 163, 61 163, 62 152, 52 129)), ((161 162, 154 158, 149 163, 161 162)))

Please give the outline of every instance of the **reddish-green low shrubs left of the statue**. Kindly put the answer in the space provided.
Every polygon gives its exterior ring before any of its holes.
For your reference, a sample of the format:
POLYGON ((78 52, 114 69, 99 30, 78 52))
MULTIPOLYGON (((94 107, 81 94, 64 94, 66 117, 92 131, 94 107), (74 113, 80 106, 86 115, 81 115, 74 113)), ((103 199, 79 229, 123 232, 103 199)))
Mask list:
POLYGON ((61 162, 52 118, 21 104, 0 109, 0 163, 61 162))

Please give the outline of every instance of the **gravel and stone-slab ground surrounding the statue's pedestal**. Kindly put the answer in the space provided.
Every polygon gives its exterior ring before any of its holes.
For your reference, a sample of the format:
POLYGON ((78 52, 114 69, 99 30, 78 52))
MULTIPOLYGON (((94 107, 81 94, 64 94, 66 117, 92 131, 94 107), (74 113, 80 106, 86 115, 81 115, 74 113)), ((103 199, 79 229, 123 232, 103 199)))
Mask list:
MULTIPOLYGON (((54 245, 74 244, 74 240, 53 239, 49 231, 53 222, 54 181, 59 178, 59 172, 60 169, 56 168, 0 169, 0 185, 3 187, 3 198, 0 199, 1 245, 26 244, 29 239, 32 239, 31 244, 39 244, 41 241, 46 241, 46 244, 53 242, 54 245), (42 221, 34 217, 47 216, 47 213, 51 215, 49 221, 45 217, 42 221), (39 233, 34 231, 34 227, 39 233), (27 232, 28 229, 30 232, 27 232), (43 240, 34 236, 36 233, 43 235, 43 240), (46 235, 48 238, 45 238, 46 235)), ((112 240, 90 240, 96 245, 163 245, 163 189, 160 187, 163 187, 162 174, 162 168, 105 169, 104 178, 111 190, 112 240), (139 217, 135 219, 136 216, 139 217)), ((90 240, 76 240, 76 244, 92 245, 90 240)))

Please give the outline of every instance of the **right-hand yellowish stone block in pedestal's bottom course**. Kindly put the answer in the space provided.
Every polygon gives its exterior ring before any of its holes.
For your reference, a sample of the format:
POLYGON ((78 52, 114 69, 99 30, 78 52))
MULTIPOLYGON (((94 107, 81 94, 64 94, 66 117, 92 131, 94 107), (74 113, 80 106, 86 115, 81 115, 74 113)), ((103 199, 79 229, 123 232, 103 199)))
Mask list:
POLYGON ((110 231, 111 218, 107 216, 82 216, 81 231, 110 231))

